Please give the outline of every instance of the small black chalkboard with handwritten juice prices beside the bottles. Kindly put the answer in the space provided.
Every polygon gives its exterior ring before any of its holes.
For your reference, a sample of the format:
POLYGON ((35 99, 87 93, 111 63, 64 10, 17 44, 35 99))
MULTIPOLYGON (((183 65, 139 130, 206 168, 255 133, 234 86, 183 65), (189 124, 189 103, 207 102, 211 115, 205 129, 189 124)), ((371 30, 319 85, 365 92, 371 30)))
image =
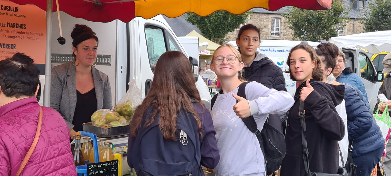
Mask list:
POLYGON ((118 160, 87 164, 87 176, 118 176, 118 160))

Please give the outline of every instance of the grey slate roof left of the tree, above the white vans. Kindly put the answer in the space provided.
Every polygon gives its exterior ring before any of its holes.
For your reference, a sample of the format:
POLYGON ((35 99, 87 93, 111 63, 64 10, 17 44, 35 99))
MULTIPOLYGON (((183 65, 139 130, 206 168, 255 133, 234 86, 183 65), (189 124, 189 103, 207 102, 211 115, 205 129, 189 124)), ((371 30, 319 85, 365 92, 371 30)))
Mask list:
POLYGON ((167 21, 167 23, 169 23, 172 31, 174 31, 175 35, 178 37, 186 36, 193 30, 198 32, 199 34, 202 34, 202 32, 199 31, 199 29, 197 28, 197 26, 188 23, 185 20, 184 16, 185 14, 176 18, 169 18, 163 15, 163 18, 167 21))

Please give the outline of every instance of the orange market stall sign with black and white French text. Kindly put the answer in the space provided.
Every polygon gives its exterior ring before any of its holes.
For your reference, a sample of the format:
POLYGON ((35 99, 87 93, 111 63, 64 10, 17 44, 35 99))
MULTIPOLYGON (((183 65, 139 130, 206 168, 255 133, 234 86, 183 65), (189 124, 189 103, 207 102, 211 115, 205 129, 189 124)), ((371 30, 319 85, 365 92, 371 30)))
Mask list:
POLYGON ((39 7, 0 0, 0 61, 16 52, 45 64, 46 15, 39 7))

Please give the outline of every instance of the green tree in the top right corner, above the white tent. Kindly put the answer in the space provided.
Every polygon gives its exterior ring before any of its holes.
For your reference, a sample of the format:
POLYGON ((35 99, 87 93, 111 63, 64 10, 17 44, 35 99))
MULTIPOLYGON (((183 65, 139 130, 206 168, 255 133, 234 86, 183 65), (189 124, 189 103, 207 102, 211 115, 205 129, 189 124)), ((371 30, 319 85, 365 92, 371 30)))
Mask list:
POLYGON ((364 14, 362 24, 366 32, 391 30, 391 0, 372 0, 364 14))

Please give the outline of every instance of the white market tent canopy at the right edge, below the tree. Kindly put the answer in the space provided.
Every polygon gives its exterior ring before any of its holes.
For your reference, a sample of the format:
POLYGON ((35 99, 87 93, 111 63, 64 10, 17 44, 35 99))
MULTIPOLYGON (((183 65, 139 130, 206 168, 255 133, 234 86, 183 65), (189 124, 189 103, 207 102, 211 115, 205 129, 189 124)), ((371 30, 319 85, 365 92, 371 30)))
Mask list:
POLYGON ((330 43, 339 48, 366 49, 369 53, 391 52, 391 31, 366 32, 332 37, 330 43))

